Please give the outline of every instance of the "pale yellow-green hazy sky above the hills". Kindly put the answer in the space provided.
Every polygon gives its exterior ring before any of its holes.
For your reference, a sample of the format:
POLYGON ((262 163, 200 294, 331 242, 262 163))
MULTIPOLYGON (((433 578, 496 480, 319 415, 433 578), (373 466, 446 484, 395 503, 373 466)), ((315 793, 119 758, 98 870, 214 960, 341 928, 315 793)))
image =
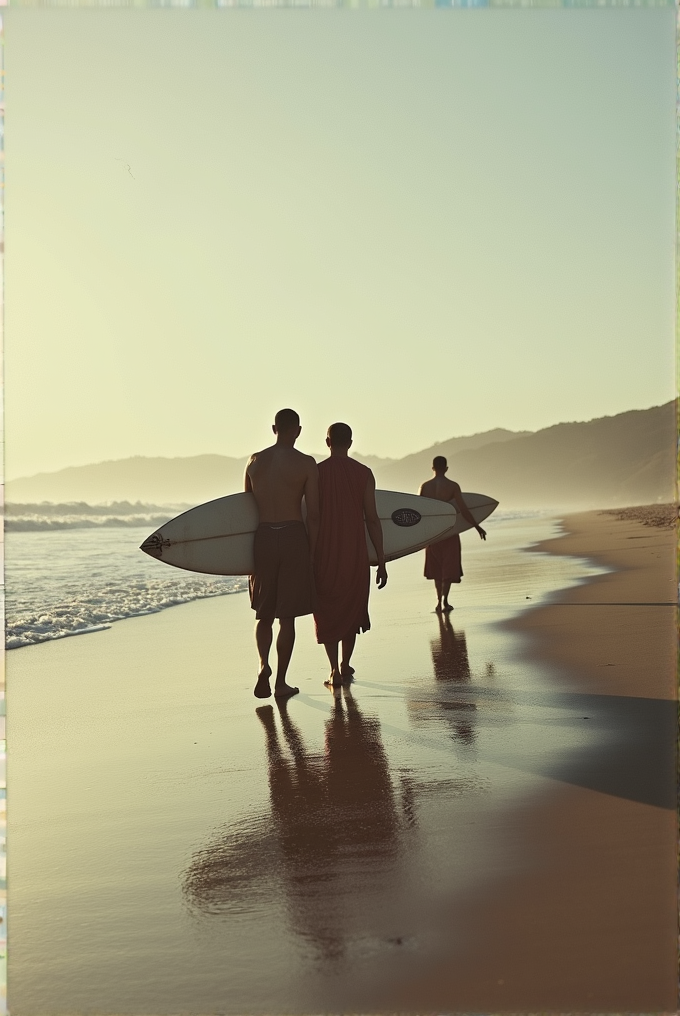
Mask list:
POLYGON ((3 16, 9 479, 674 397, 673 8, 3 16))

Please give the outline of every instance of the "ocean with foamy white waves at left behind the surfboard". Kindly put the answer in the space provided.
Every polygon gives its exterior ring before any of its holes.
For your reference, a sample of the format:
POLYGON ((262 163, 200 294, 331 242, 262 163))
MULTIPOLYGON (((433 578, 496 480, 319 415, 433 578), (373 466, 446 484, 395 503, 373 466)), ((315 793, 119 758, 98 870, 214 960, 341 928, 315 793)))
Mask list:
POLYGON ((10 506, 6 647, 103 631, 124 618, 245 590, 242 577, 185 572, 141 553, 145 537, 182 507, 10 506))

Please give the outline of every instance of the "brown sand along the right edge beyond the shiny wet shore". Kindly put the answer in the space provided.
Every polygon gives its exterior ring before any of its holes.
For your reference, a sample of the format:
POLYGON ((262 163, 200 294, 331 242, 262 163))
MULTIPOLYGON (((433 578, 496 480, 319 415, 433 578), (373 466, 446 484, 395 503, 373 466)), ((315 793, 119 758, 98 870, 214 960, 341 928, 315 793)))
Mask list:
POLYGON ((584 708, 604 703, 622 744, 523 812, 537 864, 468 901, 476 947, 399 985, 395 1008, 676 1011, 675 517, 584 512, 537 547, 612 569, 512 627, 584 708))

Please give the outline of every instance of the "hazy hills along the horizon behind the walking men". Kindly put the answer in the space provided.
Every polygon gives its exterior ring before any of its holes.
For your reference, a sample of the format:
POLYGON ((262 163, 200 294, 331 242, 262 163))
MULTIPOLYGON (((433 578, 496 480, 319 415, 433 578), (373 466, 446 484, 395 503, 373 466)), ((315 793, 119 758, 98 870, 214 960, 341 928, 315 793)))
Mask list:
MULTIPOLYGON (((434 455, 463 490, 504 508, 617 507, 675 496, 674 402, 545 430, 487 431, 450 438, 401 459, 357 454, 379 487, 414 491, 431 475, 434 455)), ((316 456, 316 457, 321 457, 316 456)), ((242 490, 245 458, 195 455, 133 458, 72 466, 7 483, 9 502, 111 501, 198 504, 242 490)))

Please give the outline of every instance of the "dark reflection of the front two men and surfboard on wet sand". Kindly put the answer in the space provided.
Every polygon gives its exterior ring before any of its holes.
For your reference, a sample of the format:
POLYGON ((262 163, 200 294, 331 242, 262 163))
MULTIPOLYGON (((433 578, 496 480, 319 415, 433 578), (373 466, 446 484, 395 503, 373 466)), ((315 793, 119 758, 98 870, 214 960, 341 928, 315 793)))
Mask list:
POLYGON ((289 923, 319 961, 382 927, 398 883, 406 823, 395 806, 379 721, 349 689, 333 697, 322 754, 311 754, 287 703, 256 712, 266 741, 271 812, 220 835, 184 878, 194 909, 234 913, 283 896, 289 923), (282 892, 283 890, 283 892, 282 892))

